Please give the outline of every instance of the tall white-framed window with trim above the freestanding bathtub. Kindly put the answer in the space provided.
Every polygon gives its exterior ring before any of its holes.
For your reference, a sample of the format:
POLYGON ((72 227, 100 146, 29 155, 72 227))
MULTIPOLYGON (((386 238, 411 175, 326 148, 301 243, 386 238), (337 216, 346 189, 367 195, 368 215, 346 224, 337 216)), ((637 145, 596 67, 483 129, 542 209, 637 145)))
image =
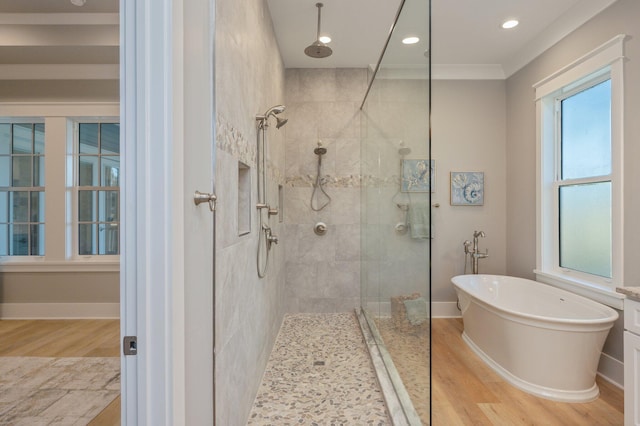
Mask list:
POLYGON ((534 86, 536 278, 618 309, 624 38, 615 37, 534 86))

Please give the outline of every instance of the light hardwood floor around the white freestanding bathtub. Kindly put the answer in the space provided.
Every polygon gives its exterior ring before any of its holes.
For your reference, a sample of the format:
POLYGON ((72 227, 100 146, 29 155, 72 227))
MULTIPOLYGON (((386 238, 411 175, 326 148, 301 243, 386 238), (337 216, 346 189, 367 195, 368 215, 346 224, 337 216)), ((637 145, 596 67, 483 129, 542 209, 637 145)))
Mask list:
POLYGON ((585 404, 549 401, 506 383, 460 337, 461 319, 434 319, 434 425, 622 425, 621 389, 598 378, 600 397, 585 404))

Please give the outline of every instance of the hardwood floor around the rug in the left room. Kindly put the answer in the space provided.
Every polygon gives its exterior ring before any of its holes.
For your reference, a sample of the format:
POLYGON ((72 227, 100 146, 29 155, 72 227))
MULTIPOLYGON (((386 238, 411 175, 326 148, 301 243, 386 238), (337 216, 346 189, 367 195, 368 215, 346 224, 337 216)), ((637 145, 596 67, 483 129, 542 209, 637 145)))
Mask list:
MULTIPOLYGON (((118 357, 120 321, 0 320, 0 357, 3 356, 118 357)), ((120 397, 89 424, 120 425, 120 397)))

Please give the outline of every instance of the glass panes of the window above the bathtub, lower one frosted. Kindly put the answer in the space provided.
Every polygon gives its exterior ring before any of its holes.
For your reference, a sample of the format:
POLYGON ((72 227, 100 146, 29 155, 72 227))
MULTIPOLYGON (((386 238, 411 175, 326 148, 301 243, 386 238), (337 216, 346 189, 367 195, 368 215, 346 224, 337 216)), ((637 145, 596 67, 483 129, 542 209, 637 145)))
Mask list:
POLYGON ((559 266, 611 278, 611 80, 566 94, 557 108, 559 266))

